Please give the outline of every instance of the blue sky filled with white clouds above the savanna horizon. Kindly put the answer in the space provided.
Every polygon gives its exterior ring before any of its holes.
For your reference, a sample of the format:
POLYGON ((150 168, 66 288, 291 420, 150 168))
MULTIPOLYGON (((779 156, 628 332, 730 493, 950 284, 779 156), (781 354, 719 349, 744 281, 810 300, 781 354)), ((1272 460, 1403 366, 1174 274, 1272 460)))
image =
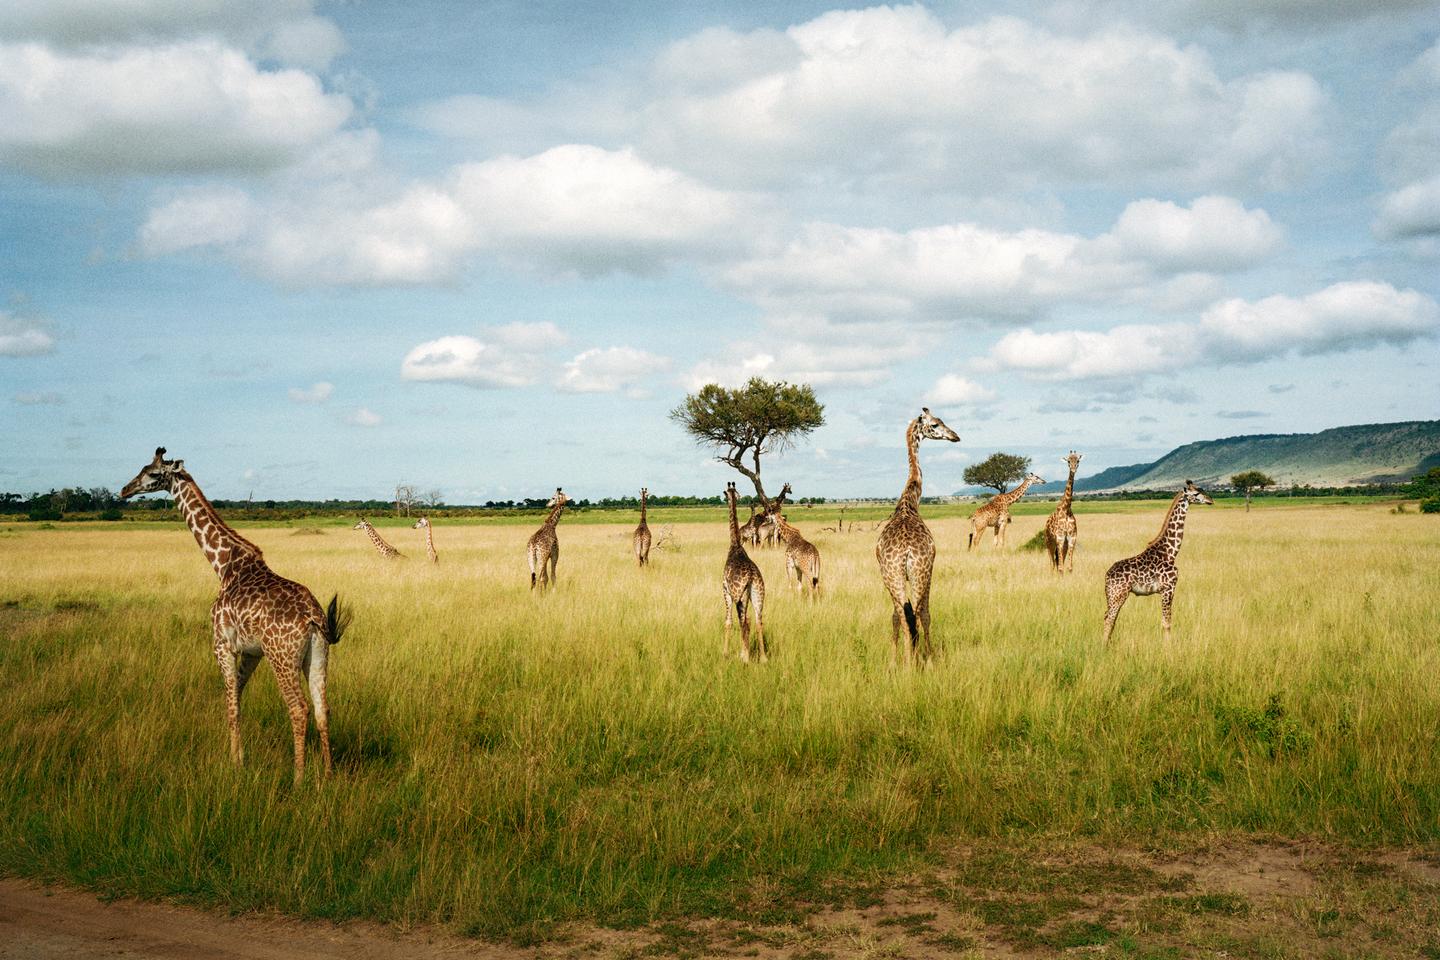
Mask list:
POLYGON ((796 497, 1440 417, 1440 3, 0 4, 0 489, 796 497))

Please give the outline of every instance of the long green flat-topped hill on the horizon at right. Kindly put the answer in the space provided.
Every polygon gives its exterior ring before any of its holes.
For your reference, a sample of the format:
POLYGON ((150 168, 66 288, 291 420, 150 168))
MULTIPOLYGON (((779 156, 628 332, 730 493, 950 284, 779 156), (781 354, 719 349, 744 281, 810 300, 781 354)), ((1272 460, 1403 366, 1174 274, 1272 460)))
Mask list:
MULTIPOLYGON (((1440 420, 1362 423, 1319 433, 1256 433, 1178 446, 1153 463, 1112 466, 1076 478, 1083 494, 1175 489, 1187 479, 1221 486, 1240 471, 1261 471, 1277 484, 1345 486, 1407 481, 1440 465, 1440 420)), ((1040 486, 1058 492, 1063 482, 1040 486)))

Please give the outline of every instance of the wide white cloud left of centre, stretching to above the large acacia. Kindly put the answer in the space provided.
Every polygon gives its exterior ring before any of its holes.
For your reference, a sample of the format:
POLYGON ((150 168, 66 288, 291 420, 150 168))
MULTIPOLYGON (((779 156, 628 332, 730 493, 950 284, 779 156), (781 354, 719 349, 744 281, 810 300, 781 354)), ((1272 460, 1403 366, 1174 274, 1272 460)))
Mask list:
POLYGON ((369 196, 363 163, 298 178, 269 199, 209 187, 151 210, 150 255, 212 248, 292 285, 454 281, 468 258, 598 276, 655 273, 734 243, 736 200, 632 150, 569 144, 461 164, 432 183, 369 196), (347 178, 348 177, 348 178, 347 178))

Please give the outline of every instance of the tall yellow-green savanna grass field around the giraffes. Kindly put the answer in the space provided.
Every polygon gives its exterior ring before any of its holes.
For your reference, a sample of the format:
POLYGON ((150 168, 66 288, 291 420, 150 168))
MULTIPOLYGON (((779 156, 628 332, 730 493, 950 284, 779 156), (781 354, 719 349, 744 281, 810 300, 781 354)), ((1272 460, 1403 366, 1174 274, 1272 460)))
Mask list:
MULTIPOLYGON (((245 528, 356 609, 331 659, 337 776, 312 764, 298 789, 268 668, 246 766, 228 761, 215 580, 183 527, 0 527, 0 872, 527 940, 793 920, 966 843, 1440 849, 1436 518, 1195 508, 1174 642, 1133 597, 1103 648, 1100 576, 1164 505, 1102 507, 1081 507, 1063 580, 1018 550, 1043 510, 999 554, 965 553, 968 511, 927 511, 926 671, 891 664, 864 512, 845 534, 821 531, 834 511, 792 514, 825 557, 819 604, 757 553, 763 668, 720 658, 719 511, 657 511, 674 537, 648 571, 629 563, 634 517, 562 522, 546 597, 513 522, 436 527, 439 567, 419 531, 384 530, 412 556, 384 563, 344 527, 245 528)), ((1038 853, 1009 856, 991 887, 1038 853)), ((1191 894, 1164 895, 1184 913, 1191 894)))

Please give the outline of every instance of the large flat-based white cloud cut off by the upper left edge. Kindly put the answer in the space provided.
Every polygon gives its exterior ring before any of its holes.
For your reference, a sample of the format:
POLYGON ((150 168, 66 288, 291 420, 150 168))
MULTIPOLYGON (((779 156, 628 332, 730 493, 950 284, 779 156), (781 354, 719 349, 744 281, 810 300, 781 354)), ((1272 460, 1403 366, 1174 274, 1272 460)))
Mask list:
POLYGON ((350 117, 310 73, 213 40, 56 52, 0 45, 0 163, 46 176, 266 170, 350 117))

